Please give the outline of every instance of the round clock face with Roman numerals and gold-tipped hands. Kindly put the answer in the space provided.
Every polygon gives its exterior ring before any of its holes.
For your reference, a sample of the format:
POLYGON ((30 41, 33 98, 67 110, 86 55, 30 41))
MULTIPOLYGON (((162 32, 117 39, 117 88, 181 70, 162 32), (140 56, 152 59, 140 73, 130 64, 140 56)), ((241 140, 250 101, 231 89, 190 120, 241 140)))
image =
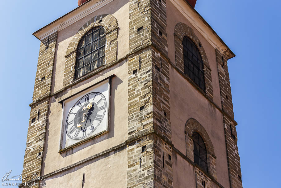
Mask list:
POLYGON ((103 94, 93 92, 85 95, 70 110, 66 123, 66 134, 71 139, 82 139, 94 132, 102 122, 107 109, 103 94))

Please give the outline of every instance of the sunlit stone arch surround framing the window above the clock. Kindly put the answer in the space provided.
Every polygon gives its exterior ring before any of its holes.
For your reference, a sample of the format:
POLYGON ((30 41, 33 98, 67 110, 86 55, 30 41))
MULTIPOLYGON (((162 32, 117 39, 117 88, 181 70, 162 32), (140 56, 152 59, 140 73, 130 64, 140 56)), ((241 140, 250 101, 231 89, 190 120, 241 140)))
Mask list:
POLYGON ((106 31, 106 49, 105 49, 106 64, 90 72, 87 75, 91 76, 96 72, 99 72, 101 69, 109 67, 112 63, 114 63, 117 60, 118 24, 116 18, 113 15, 109 15, 109 14, 93 17, 78 30, 78 32, 74 35, 66 50, 65 70, 63 76, 64 87, 72 84, 75 79, 74 76, 75 76, 75 65, 77 59, 76 55, 77 55, 78 43, 90 29, 98 26, 103 27, 106 31))

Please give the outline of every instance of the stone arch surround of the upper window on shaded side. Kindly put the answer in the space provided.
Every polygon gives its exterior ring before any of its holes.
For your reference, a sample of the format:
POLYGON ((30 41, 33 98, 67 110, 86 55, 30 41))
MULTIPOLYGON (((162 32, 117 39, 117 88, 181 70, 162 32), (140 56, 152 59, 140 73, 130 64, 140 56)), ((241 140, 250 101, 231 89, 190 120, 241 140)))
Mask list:
MULTIPOLYGON (((183 37, 185 37, 185 36, 190 38, 191 41, 194 42, 194 44, 197 46, 197 49, 199 50, 199 53, 200 53, 202 61, 203 61, 204 80, 205 80, 204 92, 210 98, 213 98, 212 75, 211 75, 212 70, 210 68, 206 52, 204 50, 204 47, 202 46, 202 43, 200 42, 198 37, 195 35, 193 29, 184 23, 178 23, 174 28, 175 66, 182 74, 184 74, 184 58, 183 58, 184 56, 183 56, 182 41, 183 41, 183 37)), ((187 78, 191 83, 193 83, 193 85, 195 85, 195 87, 198 87, 198 89, 200 88, 188 76, 187 76, 187 78)))

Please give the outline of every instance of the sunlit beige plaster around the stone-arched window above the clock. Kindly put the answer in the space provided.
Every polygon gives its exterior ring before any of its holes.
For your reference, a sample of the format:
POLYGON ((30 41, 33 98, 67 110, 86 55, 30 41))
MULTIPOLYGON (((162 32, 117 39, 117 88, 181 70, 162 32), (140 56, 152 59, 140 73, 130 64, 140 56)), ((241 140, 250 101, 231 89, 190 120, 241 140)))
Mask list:
POLYGON ((58 32, 57 48, 54 62, 54 79, 52 84, 52 93, 63 88, 63 74, 65 65, 65 54, 69 42, 87 21, 97 15, 111 14, 118 23, 118 38, 117 38, 117 59, 120 59, 128 54, 129 51, 129 1, 118 0, 112 1, 97 11, 85 16, 74 24, 58 32))

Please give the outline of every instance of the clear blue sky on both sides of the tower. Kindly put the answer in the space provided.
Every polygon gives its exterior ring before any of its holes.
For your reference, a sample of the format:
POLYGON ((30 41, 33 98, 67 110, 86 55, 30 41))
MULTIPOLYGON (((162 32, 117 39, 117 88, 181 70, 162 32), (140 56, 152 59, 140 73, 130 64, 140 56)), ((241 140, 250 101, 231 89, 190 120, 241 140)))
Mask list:
MULTIPOLYGON (((198 0, 195 7, 237 56, 228 68, 245 188, 280 187, 280 6, 278 0, 198 0)), ((76 7, 77 0, 1 2, 1 179, 23 169, 40 46, 31 33, 76 7)))

